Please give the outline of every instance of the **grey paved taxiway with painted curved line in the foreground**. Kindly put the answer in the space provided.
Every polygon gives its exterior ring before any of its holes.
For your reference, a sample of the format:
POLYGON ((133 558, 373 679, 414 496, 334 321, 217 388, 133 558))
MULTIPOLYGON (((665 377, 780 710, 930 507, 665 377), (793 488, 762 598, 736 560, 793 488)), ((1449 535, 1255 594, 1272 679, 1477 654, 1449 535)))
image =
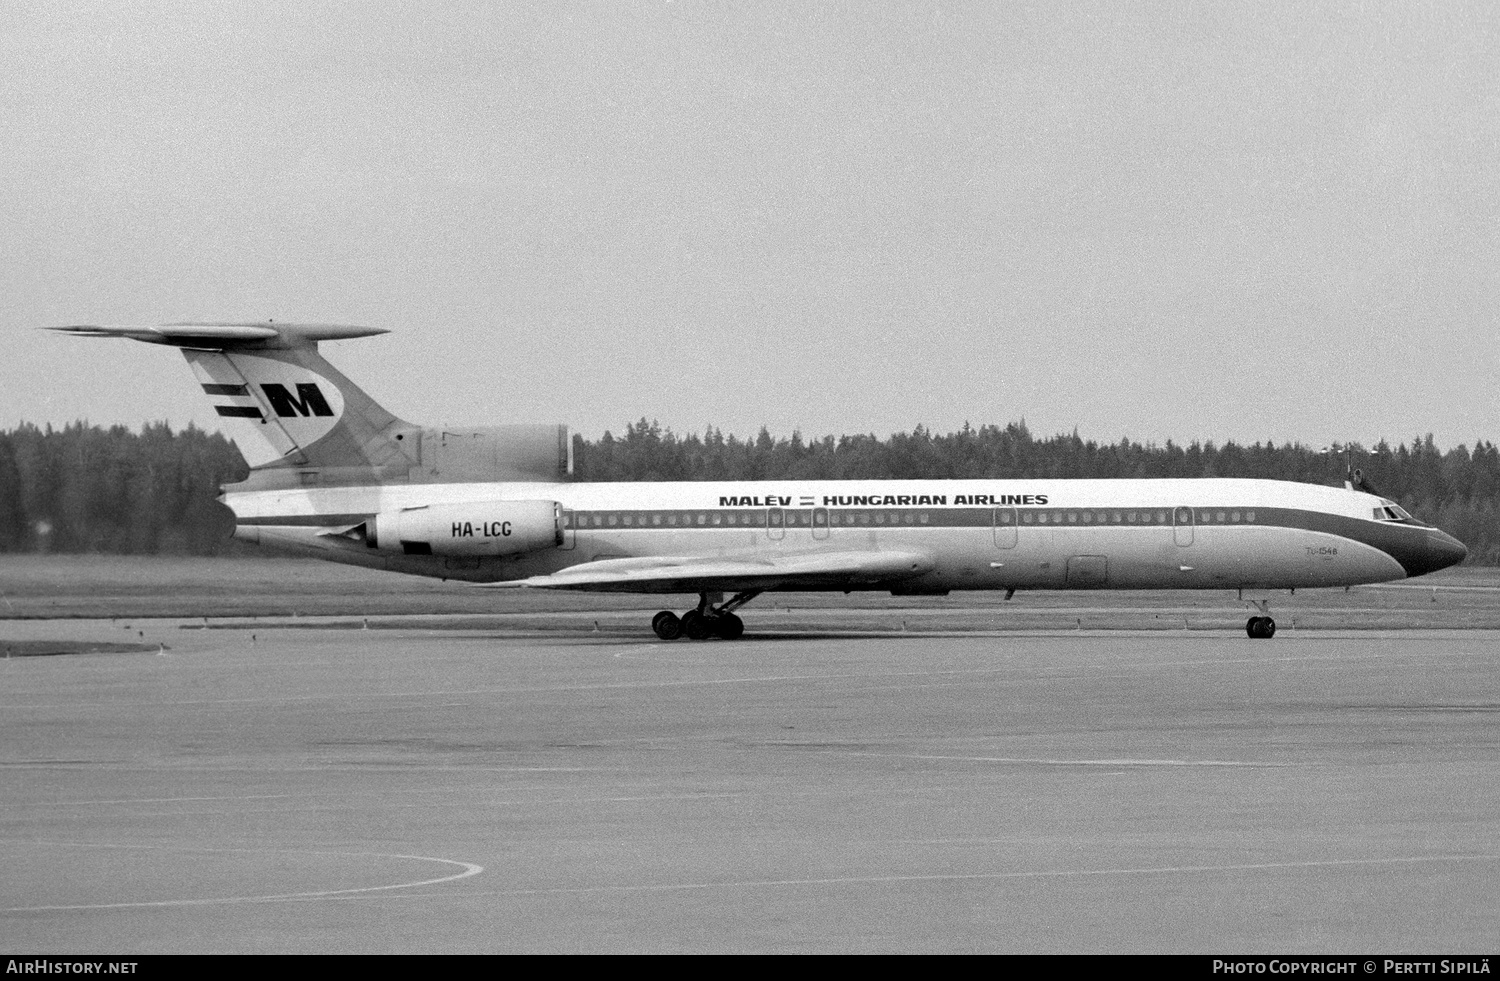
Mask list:
POLYGON ((8 952, 1496 946, 1494 632, 183 626, 6 627, 147 648, 0 660, 8 952))

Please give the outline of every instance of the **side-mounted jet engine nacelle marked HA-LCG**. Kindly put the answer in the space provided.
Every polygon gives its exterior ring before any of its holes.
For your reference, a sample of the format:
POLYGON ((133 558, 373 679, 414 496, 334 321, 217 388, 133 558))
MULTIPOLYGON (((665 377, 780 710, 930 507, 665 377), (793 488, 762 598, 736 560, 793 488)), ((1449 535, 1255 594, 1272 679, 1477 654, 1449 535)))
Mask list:
POLYGON ((364 544, 406 555, 519 555, 562 544, 562 508, 556 501, 406 507, 369 519, 364 544))

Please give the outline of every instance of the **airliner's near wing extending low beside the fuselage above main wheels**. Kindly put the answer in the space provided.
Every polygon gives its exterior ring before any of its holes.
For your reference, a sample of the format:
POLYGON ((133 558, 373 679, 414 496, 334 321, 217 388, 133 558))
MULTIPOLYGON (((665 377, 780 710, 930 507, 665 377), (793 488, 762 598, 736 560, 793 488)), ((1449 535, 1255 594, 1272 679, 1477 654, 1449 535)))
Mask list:
POLYGON ((842 590, 900 582, 921 576, 932 567, 933 560, 927 552, 606 558, 572 566, 550 576, 482 585, 592 592, 741 592, 786 586, 842 590))

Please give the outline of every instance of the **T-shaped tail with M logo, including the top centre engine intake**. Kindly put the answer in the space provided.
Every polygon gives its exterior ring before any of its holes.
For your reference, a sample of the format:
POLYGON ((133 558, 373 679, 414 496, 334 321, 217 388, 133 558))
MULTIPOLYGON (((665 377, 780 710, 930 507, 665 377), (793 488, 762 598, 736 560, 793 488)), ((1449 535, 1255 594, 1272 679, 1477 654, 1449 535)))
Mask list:
POLYGON ((566 428, 422 429, 381 408, 318 354, 320 340, 386 330, 273 322, 51 330, 180 348, 258 486, 556 480, 570 470, 566 428))

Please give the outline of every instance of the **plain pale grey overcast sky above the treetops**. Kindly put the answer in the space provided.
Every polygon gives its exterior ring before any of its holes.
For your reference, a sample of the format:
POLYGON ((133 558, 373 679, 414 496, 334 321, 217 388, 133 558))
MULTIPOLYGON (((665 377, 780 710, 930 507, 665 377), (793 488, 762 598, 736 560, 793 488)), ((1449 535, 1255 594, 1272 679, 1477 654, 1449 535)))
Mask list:
POLYGON ((0 0, 0 428, 1500 441, 1492 3, 0 0))

